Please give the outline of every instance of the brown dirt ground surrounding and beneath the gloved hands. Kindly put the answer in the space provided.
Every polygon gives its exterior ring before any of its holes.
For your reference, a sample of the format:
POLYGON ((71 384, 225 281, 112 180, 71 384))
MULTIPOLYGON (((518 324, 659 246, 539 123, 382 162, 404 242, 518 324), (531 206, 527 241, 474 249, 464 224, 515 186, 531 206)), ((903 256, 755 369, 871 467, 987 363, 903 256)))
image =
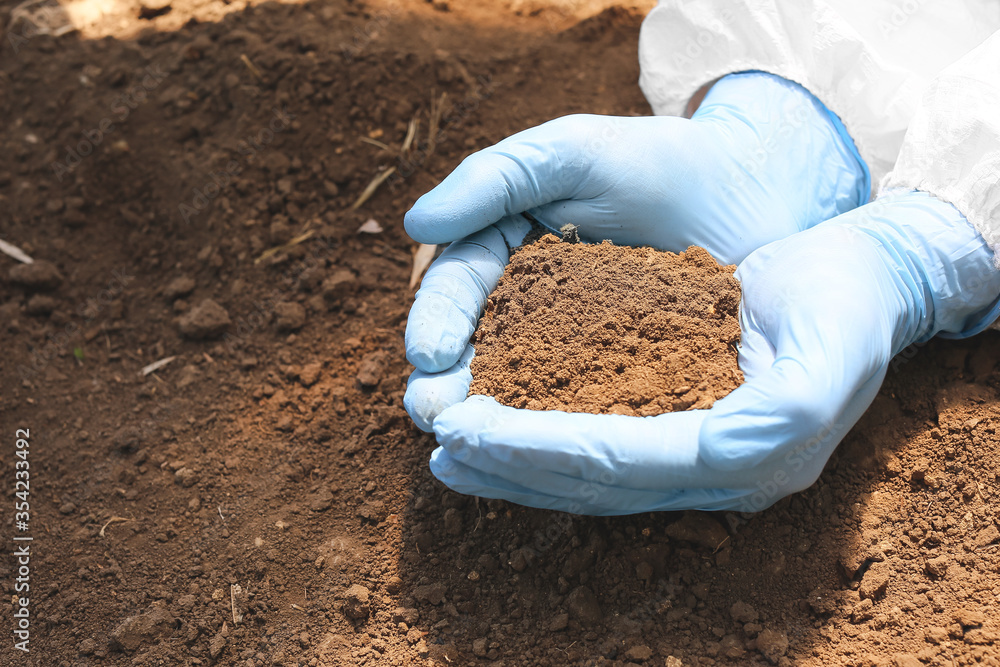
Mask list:
POLYGON ((15 5, 0 238, 58 274, 0 256, 0 663, 1000 664, 995 332, 906 350, 761 513, 576 517, 430 475, 403 213, 512 132, 648 113, 641 10, 79 0, 53 36, 15 5))

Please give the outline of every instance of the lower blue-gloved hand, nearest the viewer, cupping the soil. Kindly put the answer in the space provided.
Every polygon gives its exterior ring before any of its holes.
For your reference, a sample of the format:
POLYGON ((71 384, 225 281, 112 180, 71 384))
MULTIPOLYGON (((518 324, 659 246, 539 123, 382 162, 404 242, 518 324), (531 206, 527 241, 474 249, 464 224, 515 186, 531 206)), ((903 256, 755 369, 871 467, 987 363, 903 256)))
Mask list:
POLYGON ((434 421, 431 470, 462 493, 581 514, 761 510, 816 480, 897 352, 977 333, 1000 295, 989 246, 921 192, 769 244, 737 277, 746 383, 710 410, 569 414, 472 396, 434 421))

